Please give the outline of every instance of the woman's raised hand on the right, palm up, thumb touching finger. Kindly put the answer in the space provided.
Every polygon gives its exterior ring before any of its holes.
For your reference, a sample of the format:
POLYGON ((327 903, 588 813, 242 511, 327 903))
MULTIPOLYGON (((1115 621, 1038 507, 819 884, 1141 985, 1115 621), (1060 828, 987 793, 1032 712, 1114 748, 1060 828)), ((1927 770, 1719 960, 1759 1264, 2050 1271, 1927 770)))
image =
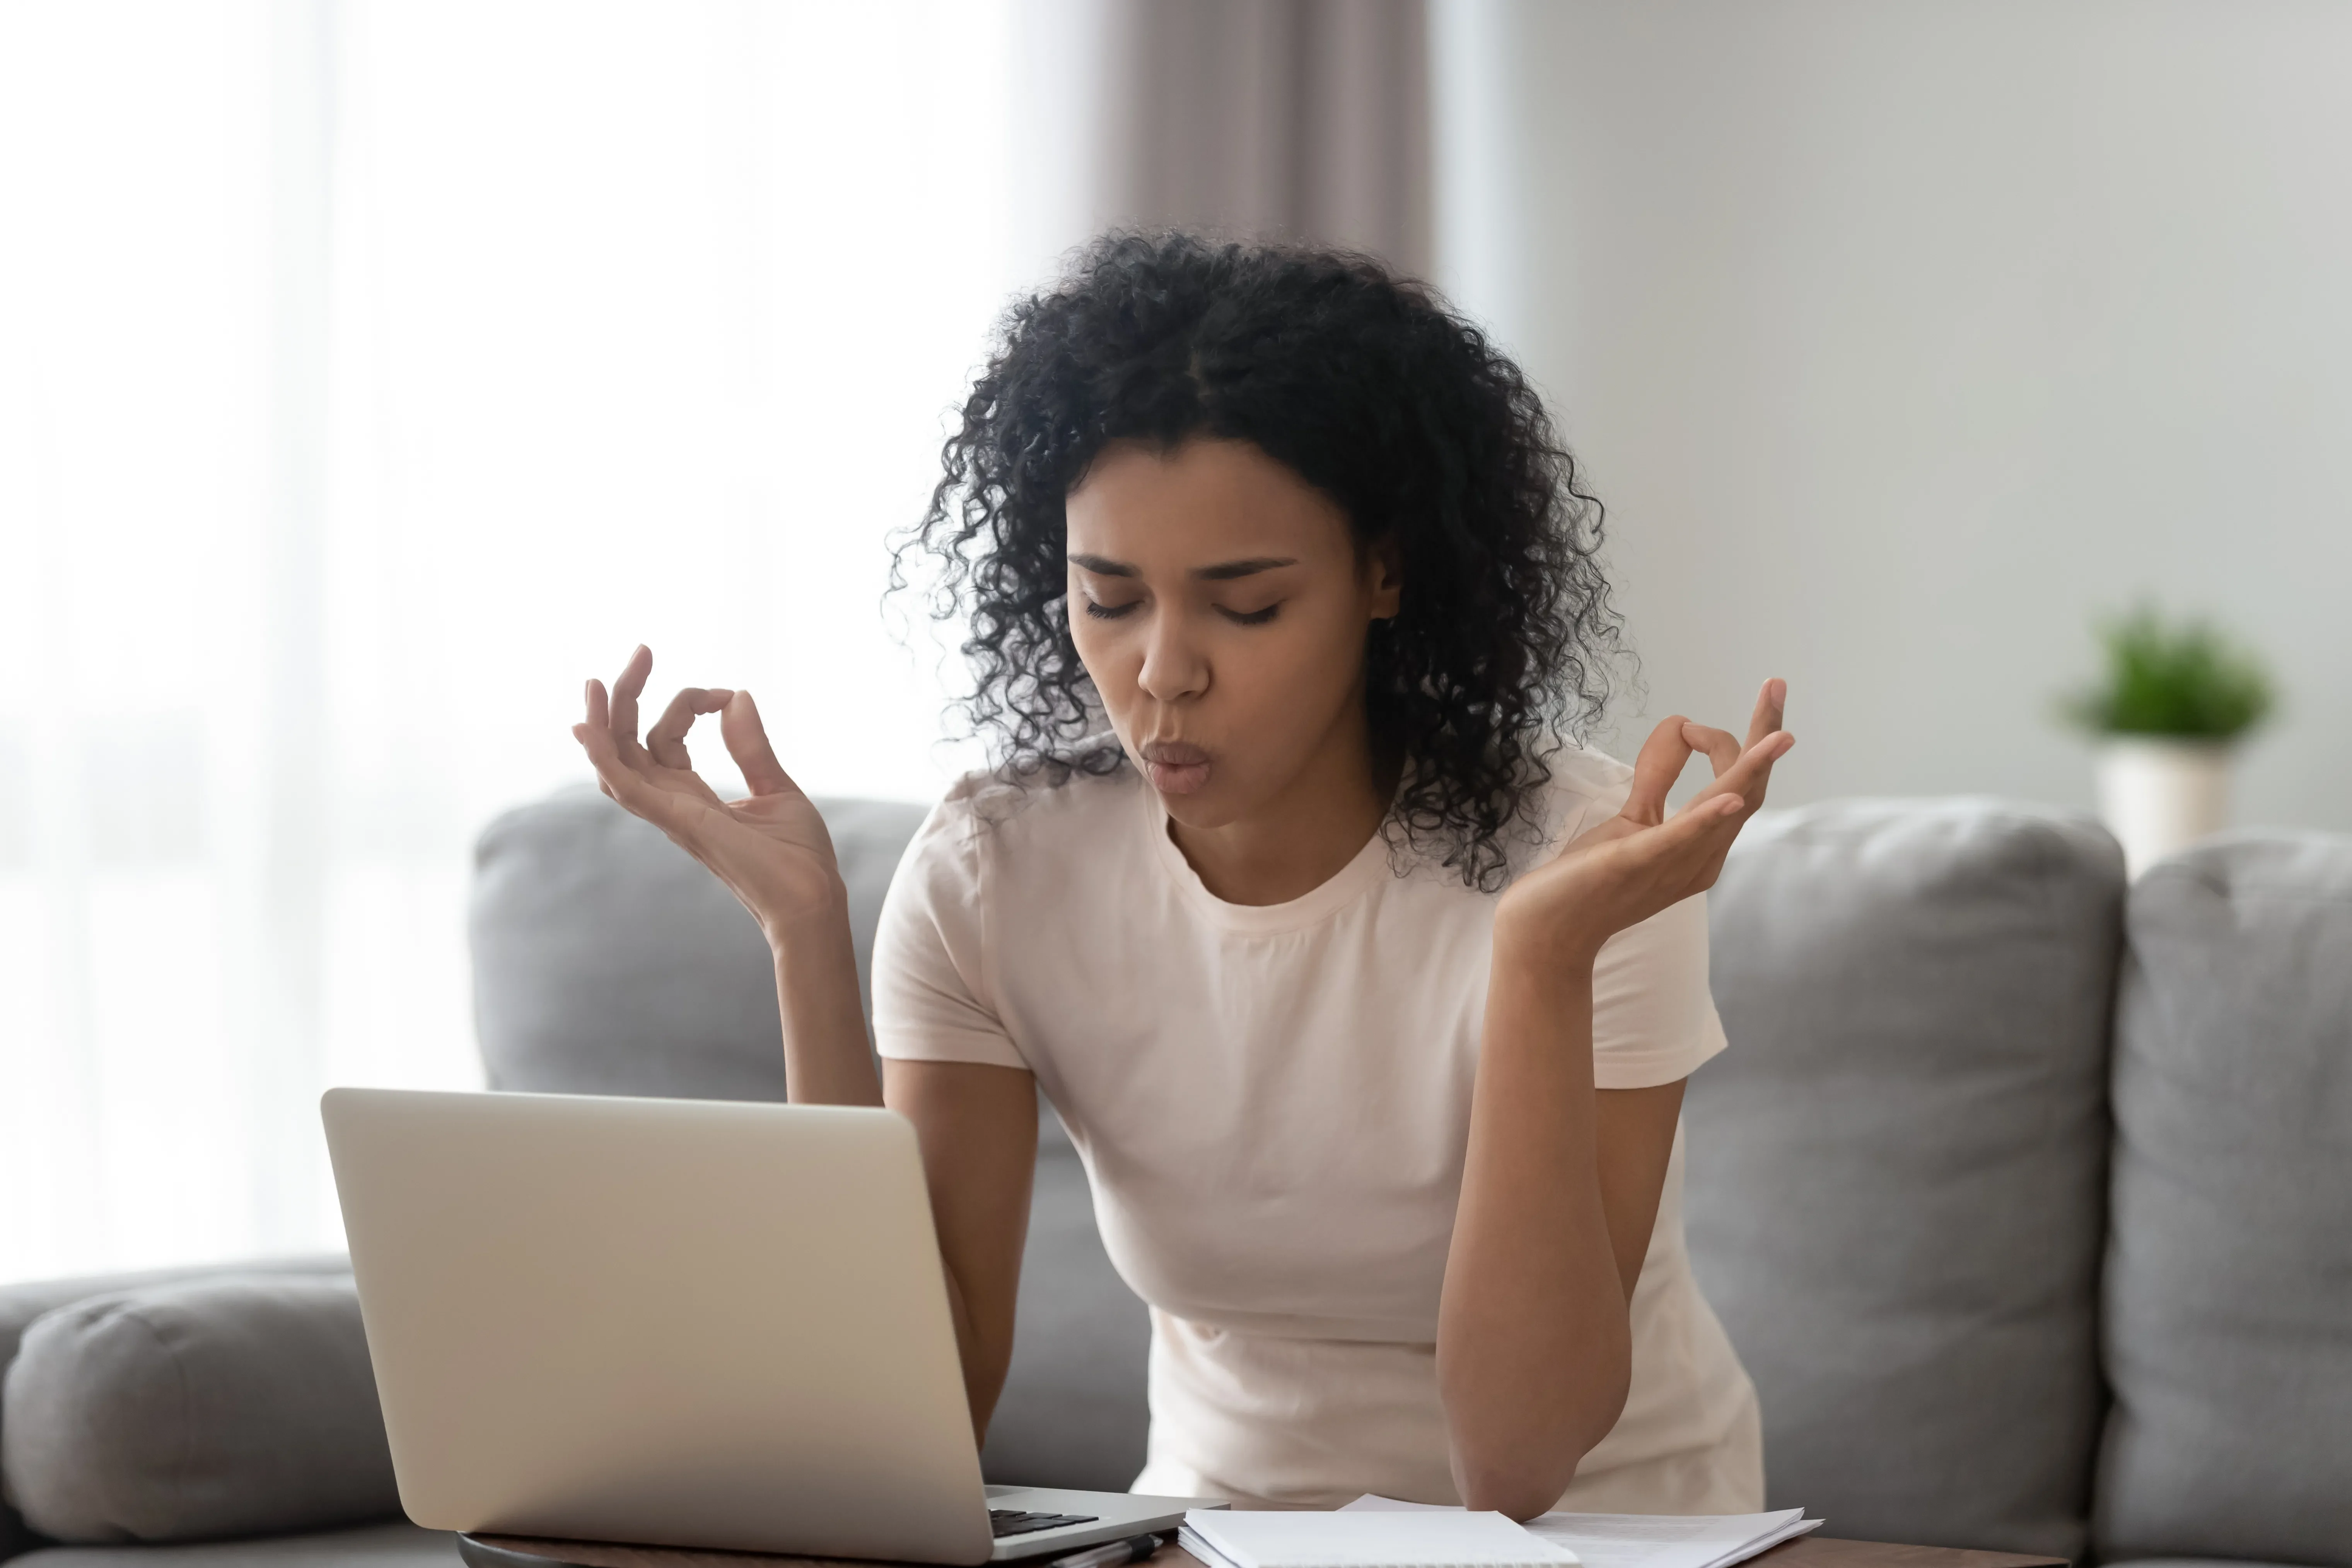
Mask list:
POLYGON ((1625 809, 1503 893, 1496 945, 1590 961, 1618 931, 1715 886, 1731 839, 1764 804, 1771 764, 1797 743, 1780 729, 1785 705, 1788 682, 1764 682, 1745 748, 1679 715, 1658 724, 1635 757, 1625 809), (1668 816, 1665 792, 1691 752, 1708 755, 1715 783, 1668 816))

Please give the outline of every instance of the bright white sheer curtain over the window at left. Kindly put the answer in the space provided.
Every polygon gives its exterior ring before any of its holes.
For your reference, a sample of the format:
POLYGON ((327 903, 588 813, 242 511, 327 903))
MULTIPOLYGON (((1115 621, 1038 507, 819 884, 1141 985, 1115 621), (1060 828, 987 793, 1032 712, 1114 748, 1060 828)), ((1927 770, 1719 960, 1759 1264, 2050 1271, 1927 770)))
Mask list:
POLYGON ((1070 240, 1014 33, 0 7, 0 1279, 336 1244, 315 1095, 477 1084, 470 839, 637 639, 811 790, 962 766, 882 541, 1070 240))

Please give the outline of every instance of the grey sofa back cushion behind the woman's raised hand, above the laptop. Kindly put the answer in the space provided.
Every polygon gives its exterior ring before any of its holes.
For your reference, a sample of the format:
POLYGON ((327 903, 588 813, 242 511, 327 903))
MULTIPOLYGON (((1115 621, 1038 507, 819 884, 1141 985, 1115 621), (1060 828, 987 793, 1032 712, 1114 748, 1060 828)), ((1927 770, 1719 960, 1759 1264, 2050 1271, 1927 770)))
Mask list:
MULTIPOLYGON (((818 802, 870 987, 882 893, 924 809, 818 802)), ((492 1088, 781 1100, 776 973, 757 922, 652 823, 574 788, 475 846, 473 1009, 492 1088)))

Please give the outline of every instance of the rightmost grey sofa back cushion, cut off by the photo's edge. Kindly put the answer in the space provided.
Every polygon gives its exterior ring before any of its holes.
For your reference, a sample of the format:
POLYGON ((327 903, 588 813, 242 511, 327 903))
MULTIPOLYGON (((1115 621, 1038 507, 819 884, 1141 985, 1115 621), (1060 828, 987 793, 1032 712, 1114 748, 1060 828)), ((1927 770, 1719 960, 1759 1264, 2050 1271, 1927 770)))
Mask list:
POLYGON ((2131 889, 2103 1556, 2352 1566, 2352 839, 2131 889))

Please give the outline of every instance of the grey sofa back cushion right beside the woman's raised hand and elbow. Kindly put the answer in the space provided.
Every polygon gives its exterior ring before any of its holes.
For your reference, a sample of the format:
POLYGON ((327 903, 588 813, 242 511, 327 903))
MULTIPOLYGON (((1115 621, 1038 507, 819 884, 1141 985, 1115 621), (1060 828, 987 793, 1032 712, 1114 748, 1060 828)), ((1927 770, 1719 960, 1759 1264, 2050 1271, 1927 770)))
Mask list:
POLYGON ((2067 811, 1842 802, 1740 835, 1686 1227, 1771 1507, 2082 1559, 2122 896, 2067 811))

